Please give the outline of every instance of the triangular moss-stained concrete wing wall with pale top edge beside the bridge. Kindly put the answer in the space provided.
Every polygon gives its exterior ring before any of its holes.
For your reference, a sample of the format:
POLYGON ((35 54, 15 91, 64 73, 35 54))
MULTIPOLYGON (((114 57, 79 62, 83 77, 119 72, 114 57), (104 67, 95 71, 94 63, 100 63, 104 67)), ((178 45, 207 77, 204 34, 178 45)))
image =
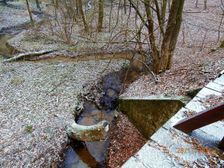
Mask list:
POLYGON ((120 97, 119 110, 129 117, 146 138, 149 138, 183 107, 185 102, 184 97, 120 97))

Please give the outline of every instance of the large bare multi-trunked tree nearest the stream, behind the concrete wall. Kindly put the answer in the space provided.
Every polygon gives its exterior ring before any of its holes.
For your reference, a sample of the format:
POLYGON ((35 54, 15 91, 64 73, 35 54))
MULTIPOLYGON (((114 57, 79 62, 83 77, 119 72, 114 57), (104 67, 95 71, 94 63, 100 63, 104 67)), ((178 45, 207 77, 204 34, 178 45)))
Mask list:
POLYGON ((142 14, 142 11, 139 10, 135 2, 133 0, 129 0, 129 2, 147 28, 154 72, 160 73, 170 69, 181 27, 184 0, 172 1, 167 16, 167 23, 165 23, 165 13, 167 11, 168 1, 164 0, 162 5, 160 5, 158 0, 144 0, 146 21, 144 14, 142 14), (156 14, 156 17, 154 17, 153 13, 156 14), (157 27, 155 27, 156 23, 158 25, 157 27), (158 34, 162 39, 161 42, 160 40, 158 41, 160 39, 158 34))

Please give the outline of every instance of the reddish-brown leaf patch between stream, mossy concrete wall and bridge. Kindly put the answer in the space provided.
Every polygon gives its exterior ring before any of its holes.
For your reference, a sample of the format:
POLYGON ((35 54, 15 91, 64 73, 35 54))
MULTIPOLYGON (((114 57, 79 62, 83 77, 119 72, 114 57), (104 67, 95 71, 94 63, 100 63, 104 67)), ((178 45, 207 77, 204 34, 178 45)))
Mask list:
POLYGON ((108 168, 118 168, 134 155, 144 144, 146 139, 128 120, 120 113, 116 124, 110 133, 108 150, 108 168))

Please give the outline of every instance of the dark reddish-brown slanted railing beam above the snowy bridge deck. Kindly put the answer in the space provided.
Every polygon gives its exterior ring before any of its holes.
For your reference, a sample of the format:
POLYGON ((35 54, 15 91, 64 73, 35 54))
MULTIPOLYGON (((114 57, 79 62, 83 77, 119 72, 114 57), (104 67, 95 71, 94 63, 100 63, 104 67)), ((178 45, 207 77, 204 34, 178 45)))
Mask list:
MULTIPOLYGON (((174 128, 190 133, 195 129, 204 127, 224 119, 224 103, 208 110, 204 110, 192 117, 186 118, 174 125, 174 128)), ((222 145, 224 145, 222 140, 222 145)))

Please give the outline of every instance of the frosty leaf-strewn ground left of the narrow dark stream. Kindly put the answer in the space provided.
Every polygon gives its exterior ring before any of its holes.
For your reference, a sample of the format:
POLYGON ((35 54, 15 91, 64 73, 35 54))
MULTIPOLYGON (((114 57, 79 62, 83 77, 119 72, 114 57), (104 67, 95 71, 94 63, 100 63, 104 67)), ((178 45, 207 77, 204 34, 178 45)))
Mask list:
POLYGON ((0 62, 0 167, 50 167, 58 162, 83 86, 119 71, 124 63, 0 62))

